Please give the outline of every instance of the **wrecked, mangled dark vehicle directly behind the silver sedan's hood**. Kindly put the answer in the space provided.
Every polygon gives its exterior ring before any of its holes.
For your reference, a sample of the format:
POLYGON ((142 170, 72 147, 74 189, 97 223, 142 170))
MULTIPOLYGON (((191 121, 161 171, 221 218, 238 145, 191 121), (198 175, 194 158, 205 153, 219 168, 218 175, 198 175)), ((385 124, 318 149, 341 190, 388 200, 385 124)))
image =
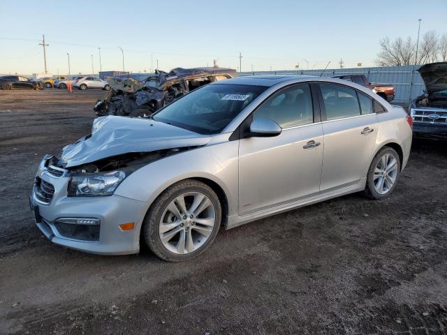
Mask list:
POLYGON ((99 117, 117 115, 142 117, 150 115, 184 94, 211 82, 237 77, 230 68, 174 68, 166 73, 155 70, 144 82, 131 78, 107 79, 110 92, 96 101, 94 111, 99 117))

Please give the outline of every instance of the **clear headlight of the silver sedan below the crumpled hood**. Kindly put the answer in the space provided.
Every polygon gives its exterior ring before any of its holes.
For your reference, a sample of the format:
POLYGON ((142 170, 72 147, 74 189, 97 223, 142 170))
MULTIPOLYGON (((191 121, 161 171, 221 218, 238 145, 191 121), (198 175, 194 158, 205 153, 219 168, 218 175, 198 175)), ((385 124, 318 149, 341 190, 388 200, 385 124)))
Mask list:
POLYGON ((73 176, 68 183, 69 197, 97 197, 112 195, 126 178, 123 171, 73 176))

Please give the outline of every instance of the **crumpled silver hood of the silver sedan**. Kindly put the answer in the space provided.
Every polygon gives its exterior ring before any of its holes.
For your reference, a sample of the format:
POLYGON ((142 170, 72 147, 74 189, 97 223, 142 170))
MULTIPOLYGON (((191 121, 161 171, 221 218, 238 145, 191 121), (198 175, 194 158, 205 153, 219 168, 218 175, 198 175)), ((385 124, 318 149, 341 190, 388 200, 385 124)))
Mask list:
POLYGON ((210 137, 152 119, 98 117, 87 135, 62 150, 66 168, 130 152, 205 145, 210 137))

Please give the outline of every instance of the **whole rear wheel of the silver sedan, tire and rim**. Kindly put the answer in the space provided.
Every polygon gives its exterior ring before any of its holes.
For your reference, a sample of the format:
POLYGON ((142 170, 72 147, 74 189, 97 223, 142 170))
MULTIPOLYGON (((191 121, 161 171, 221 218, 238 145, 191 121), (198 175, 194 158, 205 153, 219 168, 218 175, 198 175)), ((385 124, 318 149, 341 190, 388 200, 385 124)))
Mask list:
POLYGON ((393 193, 400 177, 400 158, 395 149, 383 147, 374 156, 367 174, 365 191, 370 198, 385 199, 393 193))

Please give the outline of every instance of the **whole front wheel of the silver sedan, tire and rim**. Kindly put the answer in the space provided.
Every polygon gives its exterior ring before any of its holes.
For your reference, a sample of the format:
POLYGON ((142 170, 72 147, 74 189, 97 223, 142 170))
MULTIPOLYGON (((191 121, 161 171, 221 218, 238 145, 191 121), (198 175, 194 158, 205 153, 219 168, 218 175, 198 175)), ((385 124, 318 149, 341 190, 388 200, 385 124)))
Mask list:
POLYGON ((212 188, 187 179, 156 198, 146 214, 142 237, 163 260, 191 260, 212 244, 221 215, 221 204, 212 188))

